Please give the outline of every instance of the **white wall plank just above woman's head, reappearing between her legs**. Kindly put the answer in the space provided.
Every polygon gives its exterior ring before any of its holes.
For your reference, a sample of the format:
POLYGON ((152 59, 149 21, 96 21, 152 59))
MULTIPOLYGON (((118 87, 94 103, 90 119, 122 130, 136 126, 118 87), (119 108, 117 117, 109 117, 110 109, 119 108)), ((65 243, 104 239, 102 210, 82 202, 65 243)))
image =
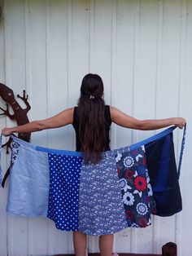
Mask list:
MULTIPOLYGON (((111 103, 112 1, 90 1, 89 72, 103 79, 104 99, 111 103)), ((89 253, 97 253, 98 237, 89 237, 89 253)))

